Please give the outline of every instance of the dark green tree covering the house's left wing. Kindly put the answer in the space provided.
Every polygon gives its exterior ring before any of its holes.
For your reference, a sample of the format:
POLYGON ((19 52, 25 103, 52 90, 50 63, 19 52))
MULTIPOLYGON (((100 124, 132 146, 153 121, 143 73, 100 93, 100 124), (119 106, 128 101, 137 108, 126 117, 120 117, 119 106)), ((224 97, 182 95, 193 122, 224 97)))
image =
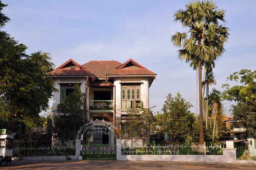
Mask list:
POLYGON ((58 104, 57 111, 58 115, 53 117, 56 138, 61 142, 73 138, 75 144, 77 131, 82 126, 84 111, 84 97, 78 84, 75 85, 73 93, 69 94, 63 103, 58 104))

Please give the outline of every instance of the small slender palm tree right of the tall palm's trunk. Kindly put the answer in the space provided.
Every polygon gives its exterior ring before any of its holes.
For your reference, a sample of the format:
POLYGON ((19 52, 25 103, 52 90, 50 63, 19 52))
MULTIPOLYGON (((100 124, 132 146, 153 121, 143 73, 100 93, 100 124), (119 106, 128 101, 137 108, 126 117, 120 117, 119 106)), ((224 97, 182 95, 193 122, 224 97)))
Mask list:
POLYGON ((212 142, 214 142, 216 117, 218 116, 218 109, 221 107, 221 92, 213 88, 209 95, 209 102, 213 106, 213 111, 215 112, 213 133, 212 133, 212 142))

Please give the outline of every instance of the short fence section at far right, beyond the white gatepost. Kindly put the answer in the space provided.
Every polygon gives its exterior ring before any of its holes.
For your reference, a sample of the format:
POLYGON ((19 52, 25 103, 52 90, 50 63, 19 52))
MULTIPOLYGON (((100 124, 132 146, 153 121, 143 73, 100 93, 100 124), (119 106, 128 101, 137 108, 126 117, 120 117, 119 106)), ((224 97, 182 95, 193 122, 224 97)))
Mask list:
POLYGON ((238 160, 256 160, 256 148, 250 145, 235 145, 236 159, 238 160))

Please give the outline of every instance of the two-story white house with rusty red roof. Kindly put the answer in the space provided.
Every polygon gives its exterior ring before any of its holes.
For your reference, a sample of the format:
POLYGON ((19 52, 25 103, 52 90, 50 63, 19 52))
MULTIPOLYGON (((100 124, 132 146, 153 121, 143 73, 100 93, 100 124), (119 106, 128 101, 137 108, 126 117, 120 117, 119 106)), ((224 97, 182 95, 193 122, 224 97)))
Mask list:
MULTIPOLYGON (((58 114, 57 105, 79 83, 81 92, 87 92, 84 95, 87 96, 87 118, 94 121, 90 143, 113 144, 115 136, 105 128, 107 122, 113 121, 125 131, 122 123, 127 119, 127 111, 149 107, 148 89, 156 75, 132 59, 123 64, 118 61, 90 61, 83 65, 70 59, 47 74, 59 90, 53 94, 53 112, 58 114), (106 114, 111 119, 105 119, 106 114)), ((129 136, 123 135, 122 138, 128 139, 129 136)))

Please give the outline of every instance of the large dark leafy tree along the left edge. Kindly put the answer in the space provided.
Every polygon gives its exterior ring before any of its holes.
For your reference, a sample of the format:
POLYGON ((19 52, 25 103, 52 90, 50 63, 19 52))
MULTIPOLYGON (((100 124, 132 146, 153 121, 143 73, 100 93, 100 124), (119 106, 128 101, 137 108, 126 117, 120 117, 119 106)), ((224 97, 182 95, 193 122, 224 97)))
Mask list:
MULTIPOLYGON (((0 2, 0 28, 9 21, 2 13, 5 6, 0 2)), ((27 55, 25 50, 26 45, 0 30, 0 111, 5 120, 20 120, 23 134, 25 127, 37 124, 39 113, 46 111, 49 98, 56 91, 46 77, 53 70, 49 55, 41 52, 27 55)))

